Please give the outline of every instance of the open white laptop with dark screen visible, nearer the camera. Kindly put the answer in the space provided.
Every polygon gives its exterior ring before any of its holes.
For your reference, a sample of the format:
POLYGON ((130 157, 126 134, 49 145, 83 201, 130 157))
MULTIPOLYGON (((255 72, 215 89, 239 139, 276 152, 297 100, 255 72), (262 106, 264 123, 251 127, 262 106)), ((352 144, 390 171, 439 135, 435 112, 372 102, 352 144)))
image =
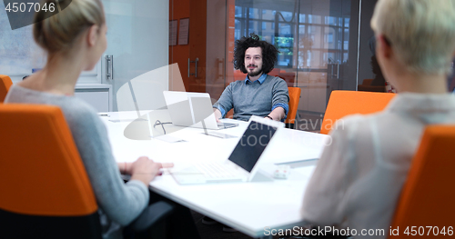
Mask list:
POLYGON ((178 184, 211 184, 271 181, 261 172, 258 162, 268 144, 284 124, 263 117, 251 116, 247 130, 226 160, 192 164, 169 171, 178 184))

